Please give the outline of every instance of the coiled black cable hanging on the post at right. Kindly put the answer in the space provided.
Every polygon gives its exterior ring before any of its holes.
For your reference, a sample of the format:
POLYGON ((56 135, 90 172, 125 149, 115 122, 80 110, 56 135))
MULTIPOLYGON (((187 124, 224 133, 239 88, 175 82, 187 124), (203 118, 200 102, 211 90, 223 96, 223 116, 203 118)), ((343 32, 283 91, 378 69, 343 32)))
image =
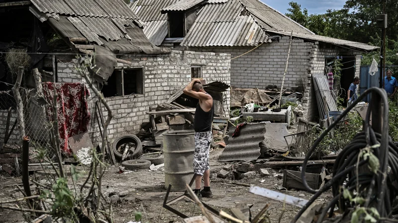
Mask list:
MULTIPOLYGON (((297 222, 302 213, 318 198, 323 192, 332 188, 333 200, 329 203, 329 205, 323 209, 320 218, 318 219, 318 223, 322 222, 328 210, 330 210, 329 216, 333 213, 333 209, 336 205, 340 205, 339 209, 342 211, 349 210, 353 208, 352 202, 346 201, 343 196, 341 196, 341 188, 344 188, 343 183, 346 180, 347 176, 349 178, 347 185, 345 186, 349 191, 358 190, 358 186, 360 190, 356 191, 355 196, 364 195, 365 203, 364 207, 377 207, 377 210, 381 217, 389 217, 391 215, 391 204, 394 201, 394 196, 390 196, 392 194, 396 194, 394 188, 390 188, 391 182, 388 182, 387 178, 387 167, 390 166, 392 172, 396 174, 396 178, 398 179, 398 148, 391 141, 389 136, 389 122, 388 122, 388 99, 387 93, 384 89, 380 88, 370 88, 366 90, 361 96, 358 97, 356 101, 354 101, 345 111, 343 111, 336 120, 328 126, 328 128, 322 132, 322 134, 318 137, 318 139, 314 142, 312 147, 309 149, 306 154, 301 170, 301 178, 304 187, 307 191, 314 193, 313 197, 304 205, 304 207, 298 212, 294 219, 294 223, 297 222), (312 153, 315 151, 318 144, 322 141, 322 139, 333 129, 336 124, 355 106, 362 101, 368 94, 372 93, 373 97, 380 97, 380 101, 376 99, 371 101, 367 115, 365 118, 363 131, 358 133, 352 141, 343 149, 343 151, 337 156, 335 164, 333 166, 333 178, 328 181, 322 188, 319 190, 314 190, 308 186, 307 181, 305 180, 305 170, 306 164, 311 157, 312 153), (372 104, 373 103, 373 104, 372 104), (382 103, 382 104, 380 104, 382 103), (379 111, 375 109, 375 105, 378 104, 380 106, 379 111), (372 107, 373 106, 373 107, 372 107), (381 110, 383 108, 383 110, 381 110), (380 110, 382 112, 380 112, 380 110), (371 111, 375 114, 382 113, 383 123, 378 123, 373 120, 373 128, 381 130, 381 134, 374 131, 372 126, 370 125, 370 117, 371 111), (380 147, 375 148, 374 145, 379 145, 380 147), (366 168, 361 166, 369 163, 368 159, 360 159, 358 162, 358 157, 361 156, 361 151, 364 148, 369 148, 370 152, 378 159, 380 167, 377 172, 371 172, 366 168), (358 165, 358 167, 357 167, 358 165), (368 171, 362 174, 355 174, 358 168, 363 171, 368 171), (391 191, 393 190, 393 191, 391 191), (391 193, 390 193, 391 192, 391 193)), ((372 158, 373 159, 373 158, 372 158)), ((374 160, 371 161, 374 164, 374 160)))

